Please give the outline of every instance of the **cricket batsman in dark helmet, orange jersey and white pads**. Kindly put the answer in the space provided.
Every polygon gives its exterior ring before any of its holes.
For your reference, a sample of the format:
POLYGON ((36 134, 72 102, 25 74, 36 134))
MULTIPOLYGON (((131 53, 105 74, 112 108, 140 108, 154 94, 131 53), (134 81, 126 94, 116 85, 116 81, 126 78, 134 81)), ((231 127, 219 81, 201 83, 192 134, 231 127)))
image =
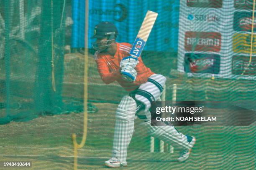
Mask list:
POLYGON ((179 162, 187 160, 191 148, 195 145, 195 137, 183 135, 173 125, 166 125, 165 122, 160 126, 151 126, 149 108, 152 101, 159 99, 166 78, 146 67, 141 57, 129 55, 132 45, 116 42, 117 36, 118 30, 110 22, 96 25, 92 36, 97 39, 92 46, 96 50, 95 61, 103 82, 109 84, 117 81, 130 92, 129 95, 123 96, 116 110, 113 155, 105 161, 105 165, 110 168, 127 166, 127 148, 134 131, 135 115, 143 121, 141 125, 148 130, 149 135, 182 148, 177 159, 179 162))

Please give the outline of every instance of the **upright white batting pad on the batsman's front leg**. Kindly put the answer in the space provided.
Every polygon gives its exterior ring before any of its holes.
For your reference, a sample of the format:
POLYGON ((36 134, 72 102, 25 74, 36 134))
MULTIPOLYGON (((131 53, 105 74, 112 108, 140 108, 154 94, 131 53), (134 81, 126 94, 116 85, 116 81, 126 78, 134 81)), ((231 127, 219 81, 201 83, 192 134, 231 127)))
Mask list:
POLYGON ((113 157, 118 158, 120 163, 126 163, 127 148, 134 131, 136 107, 135 100, 125 95, 116 111, 113 157))

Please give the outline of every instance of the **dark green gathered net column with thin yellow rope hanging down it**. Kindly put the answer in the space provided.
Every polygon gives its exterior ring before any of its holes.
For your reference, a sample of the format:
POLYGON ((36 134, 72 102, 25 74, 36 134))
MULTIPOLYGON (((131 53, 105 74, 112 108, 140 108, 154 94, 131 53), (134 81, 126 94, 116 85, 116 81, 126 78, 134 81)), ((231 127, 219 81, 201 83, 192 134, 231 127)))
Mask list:
POLYGON ((35 80, 36 112, 59 114, 62 110, 61 87, 63 80, 64 50, 60 28, 60 1, 44 1, 41 12, 40 44, 35 80))

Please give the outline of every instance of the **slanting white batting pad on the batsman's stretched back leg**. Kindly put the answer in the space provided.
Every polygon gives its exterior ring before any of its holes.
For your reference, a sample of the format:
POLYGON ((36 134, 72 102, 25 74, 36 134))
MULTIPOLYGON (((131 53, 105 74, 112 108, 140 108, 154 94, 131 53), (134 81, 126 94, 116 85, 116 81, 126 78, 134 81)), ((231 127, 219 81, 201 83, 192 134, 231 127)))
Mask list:
POLYGON ((186 149, 190 149, 193 147, 193 145, 187 141, 187 136, 179 133, 174 128, 174 126, 166 125, 164 122, 162 122, 163 126, 151 126, 151 121, 142 123, 142 125, 146 126, 146 128, 148 129, 148 133, 151 136, 158 138, 159 140, 163 140, 165 143, 168 143, 169 145, 172 145, 174 147, 186 149))

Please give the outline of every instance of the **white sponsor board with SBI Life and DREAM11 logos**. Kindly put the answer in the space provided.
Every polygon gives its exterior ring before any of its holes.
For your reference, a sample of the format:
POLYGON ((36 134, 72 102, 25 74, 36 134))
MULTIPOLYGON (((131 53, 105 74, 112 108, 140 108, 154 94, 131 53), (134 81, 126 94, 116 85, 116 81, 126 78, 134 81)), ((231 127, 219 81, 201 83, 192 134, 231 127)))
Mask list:
POLYGON ((256 80, 252 4, 253 0, 180 0, 178 70, 196 77, 256 80))

